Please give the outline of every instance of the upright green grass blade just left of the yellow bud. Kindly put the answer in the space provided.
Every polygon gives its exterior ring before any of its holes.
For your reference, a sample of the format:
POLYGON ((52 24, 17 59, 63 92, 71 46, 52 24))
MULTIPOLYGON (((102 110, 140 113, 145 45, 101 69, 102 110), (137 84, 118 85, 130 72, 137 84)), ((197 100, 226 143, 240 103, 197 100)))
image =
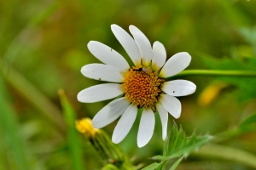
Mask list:
POLYGON ((76 114, 73 107, 69 104, 67 97, 63 90, 59 91, 61 98, 61 106, 64 113, 64 119, 67 124, 67 142, 70 155, 73 161, 74 170, 83 170, 83 156, 82 145, 79 141, 79 133, 75 129, 76 114))

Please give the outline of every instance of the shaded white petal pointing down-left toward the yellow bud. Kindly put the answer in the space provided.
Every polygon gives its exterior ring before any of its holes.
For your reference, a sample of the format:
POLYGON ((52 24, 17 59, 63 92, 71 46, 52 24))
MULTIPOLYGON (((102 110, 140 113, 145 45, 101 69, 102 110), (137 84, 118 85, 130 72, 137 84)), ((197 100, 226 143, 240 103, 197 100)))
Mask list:
POLYGON ((130 102, 125 97, 115 99, 102 108, 92 119, 92 125, 96 128, 102 128, 121 116, 130 102))

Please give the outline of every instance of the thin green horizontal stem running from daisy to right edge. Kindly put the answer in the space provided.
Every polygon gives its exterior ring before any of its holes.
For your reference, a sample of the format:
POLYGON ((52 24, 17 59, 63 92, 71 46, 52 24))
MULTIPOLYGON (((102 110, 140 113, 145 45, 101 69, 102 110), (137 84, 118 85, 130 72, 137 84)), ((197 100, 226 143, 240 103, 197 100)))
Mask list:
MULTIPOLYGON (((256 77, 256 71, 186 70, 173 77, 211 76, 211 77, 256 77)), ((173 77, 167 77, 170 80, 173 77)))

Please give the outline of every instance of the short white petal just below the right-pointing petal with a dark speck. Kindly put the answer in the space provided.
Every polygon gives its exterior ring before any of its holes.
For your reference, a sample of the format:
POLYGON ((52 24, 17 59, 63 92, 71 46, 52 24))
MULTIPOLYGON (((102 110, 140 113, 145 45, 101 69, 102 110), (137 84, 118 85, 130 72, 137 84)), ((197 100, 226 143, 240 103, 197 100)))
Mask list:
POLYGON ((180 101, 168 94, 160 94, 160 104, 163 105, 172 116, 174 116, 176 119, 181 114, 181 103, 180 101))

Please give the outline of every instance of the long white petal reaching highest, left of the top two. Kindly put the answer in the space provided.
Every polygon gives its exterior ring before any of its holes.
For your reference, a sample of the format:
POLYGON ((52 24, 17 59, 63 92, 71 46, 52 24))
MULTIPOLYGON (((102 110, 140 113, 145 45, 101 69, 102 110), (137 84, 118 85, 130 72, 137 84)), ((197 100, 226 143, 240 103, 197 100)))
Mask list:
POLYGON ((141 54, 134 39, 120 26, 111 25, 111 30, 123 48, 125 48, 134 65, 139 66, 141 64, 141 54))

